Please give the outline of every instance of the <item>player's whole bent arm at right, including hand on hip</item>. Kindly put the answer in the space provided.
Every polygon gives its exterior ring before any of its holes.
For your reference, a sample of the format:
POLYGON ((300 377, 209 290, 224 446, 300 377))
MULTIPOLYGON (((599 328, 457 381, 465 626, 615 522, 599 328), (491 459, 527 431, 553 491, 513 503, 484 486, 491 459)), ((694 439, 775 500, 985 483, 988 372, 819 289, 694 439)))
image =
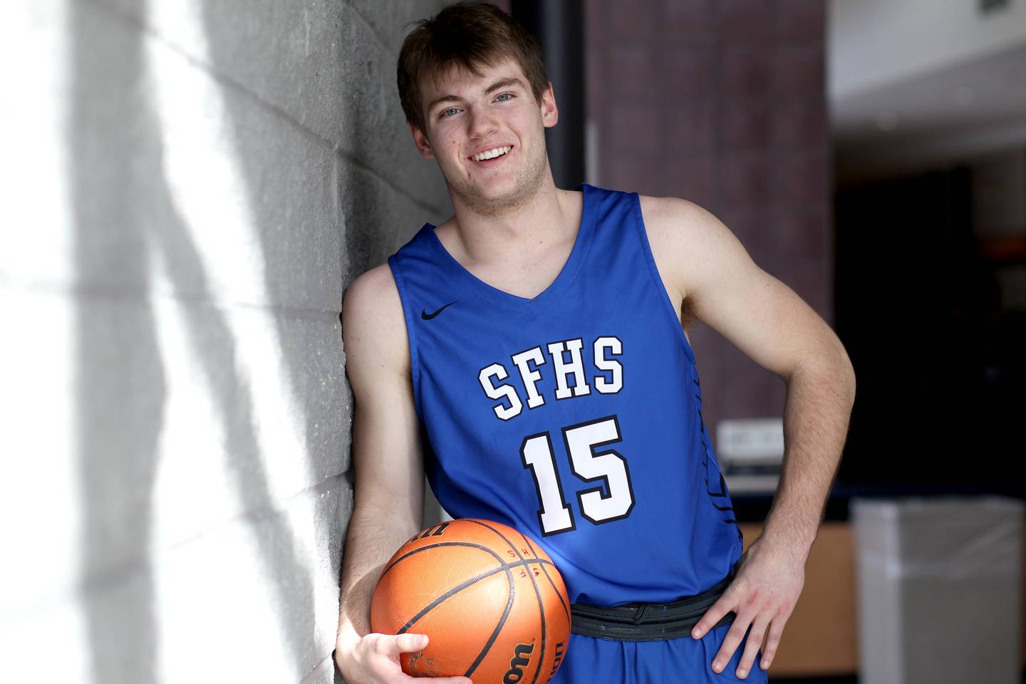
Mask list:
POLYGON ((734 611, 712 669, 721 672, 744 641, 735 673, 744 678, 766 636, 759 667, 770 667, 804 586, 805 560, 847 434, 855 371, 830 326, 758 268, 713 214, 686 200, 647 199, 669 279, 688 311, 787 384, 784 473, 773 510, 726 592, 692 629, 701 639, 734 611))

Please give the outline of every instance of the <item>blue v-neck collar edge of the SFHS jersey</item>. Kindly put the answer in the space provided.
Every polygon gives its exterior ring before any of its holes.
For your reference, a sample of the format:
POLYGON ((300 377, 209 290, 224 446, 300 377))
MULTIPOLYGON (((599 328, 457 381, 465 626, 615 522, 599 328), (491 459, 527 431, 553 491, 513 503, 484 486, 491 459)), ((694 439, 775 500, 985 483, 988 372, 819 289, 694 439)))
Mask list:
POLYGON ((591 246, 591 239, 595 232, 595 202, 597 201, 597 198, 591 195, 595 192, 595 188, 587 183, 582 183, 578 186, 578 190, 581 190, 583 193, 583 206, 581 209, 581 224, 578 227, 570 255, 567 257, 566 263, 563 264, 563 268, 559 272, 559 275, 556 276, 556 279, 544 291, 530 298, 510 294, 498 287, 492 287, 464 268, 456 257, 449 254, 448 250, 441 243, 441 240, 438 239, 438 236, 435 234, 436 227, 434 225, 425 224, 421 230, 427 232, 428 243, 435 249, 439 256, 440 265, 445 272, 472 293, 505 309, 524 312, 537 311, 552 301, 553 298, 559 296, 566 289, 566 286, 574 281, 591 246))

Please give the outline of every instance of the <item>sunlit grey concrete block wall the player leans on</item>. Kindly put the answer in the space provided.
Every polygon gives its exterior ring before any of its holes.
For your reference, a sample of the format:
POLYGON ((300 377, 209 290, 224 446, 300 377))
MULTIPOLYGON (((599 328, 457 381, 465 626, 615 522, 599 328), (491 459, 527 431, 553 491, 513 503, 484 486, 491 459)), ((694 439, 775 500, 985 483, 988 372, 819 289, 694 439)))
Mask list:
POLYGON ((415 0, 0 22, 0 680, 331 682, 352 280, 449 214, 415 0))

